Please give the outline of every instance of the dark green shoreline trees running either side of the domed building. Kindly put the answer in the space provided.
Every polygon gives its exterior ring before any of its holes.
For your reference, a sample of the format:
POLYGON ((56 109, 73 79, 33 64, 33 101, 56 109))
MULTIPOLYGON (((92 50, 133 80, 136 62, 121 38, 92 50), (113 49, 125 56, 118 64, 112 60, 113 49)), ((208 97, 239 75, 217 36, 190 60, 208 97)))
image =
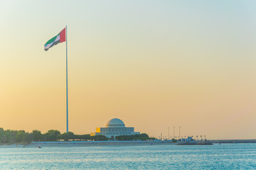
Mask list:
MULTIPOLYGON (((154 140, 154 137, 149 137, 146 133, 141 135, 122 135, 115 137, 116 140, 154 140)), ((75 135, 73 132, 60 133, 58 130, 48 130, 42 133, 40 130, 33 130, 32 132, 25 132, 25 130, 4 130, 0 128, 0 144, 11 143, 30 143, 35 142, 54 142, 54 141, 106 141, 110 140, 104 135, 90 136, 75 135)))

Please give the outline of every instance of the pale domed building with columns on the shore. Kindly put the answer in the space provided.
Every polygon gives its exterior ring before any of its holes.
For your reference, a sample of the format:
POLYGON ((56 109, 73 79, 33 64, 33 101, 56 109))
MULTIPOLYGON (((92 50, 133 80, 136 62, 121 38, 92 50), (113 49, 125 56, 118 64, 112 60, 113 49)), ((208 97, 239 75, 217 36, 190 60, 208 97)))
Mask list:
POLYGON ((118 118, 113 118, 107 122, 106 128, 96 128, 96 132, 90 135, 105 135, 106 137, 114 140, 116 136, 120 135, 139 135, 139 132, 134 132, 133 127, 125 127, 124 122, 118 118))

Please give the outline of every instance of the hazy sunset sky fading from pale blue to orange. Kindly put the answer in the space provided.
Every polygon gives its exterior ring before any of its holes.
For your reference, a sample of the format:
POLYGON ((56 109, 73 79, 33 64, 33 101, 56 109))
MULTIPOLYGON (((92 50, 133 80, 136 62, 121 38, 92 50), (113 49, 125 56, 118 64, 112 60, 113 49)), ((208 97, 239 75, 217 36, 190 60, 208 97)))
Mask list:
POLYGON ((111 118, 149 136, 255 139, 256 1, 0 1, 0 127, 65 132, 111 118))

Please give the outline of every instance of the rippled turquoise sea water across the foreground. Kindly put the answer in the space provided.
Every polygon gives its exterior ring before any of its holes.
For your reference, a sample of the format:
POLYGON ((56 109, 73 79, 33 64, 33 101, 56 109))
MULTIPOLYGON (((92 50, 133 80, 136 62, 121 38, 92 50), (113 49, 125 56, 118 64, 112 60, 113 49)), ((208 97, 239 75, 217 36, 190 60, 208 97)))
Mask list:
POLYGON ((0 148, 0 169, 256 169, 256 144, 0 148))

